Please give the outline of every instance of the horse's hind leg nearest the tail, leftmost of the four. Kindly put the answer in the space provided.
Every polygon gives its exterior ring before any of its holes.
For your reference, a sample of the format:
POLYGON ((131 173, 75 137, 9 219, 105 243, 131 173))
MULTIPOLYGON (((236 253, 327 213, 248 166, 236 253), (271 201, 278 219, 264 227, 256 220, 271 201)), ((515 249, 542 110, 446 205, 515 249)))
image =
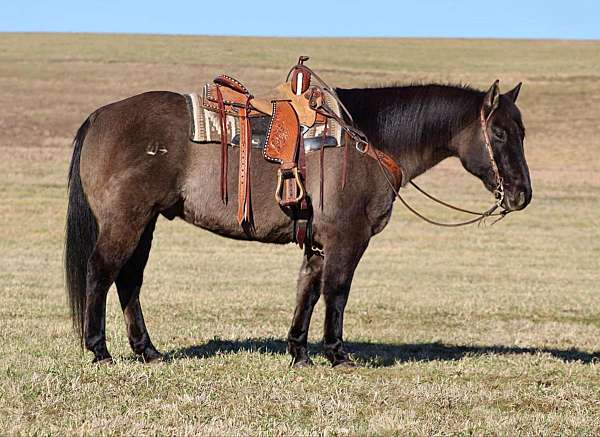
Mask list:
POLYGON ((99 223, 100 232, 88 261, 84 343, 94 353, 94 362, 110 362, 106 347, 106 295, 121 268, 137 247, 148 218, 114 214, 99 223))

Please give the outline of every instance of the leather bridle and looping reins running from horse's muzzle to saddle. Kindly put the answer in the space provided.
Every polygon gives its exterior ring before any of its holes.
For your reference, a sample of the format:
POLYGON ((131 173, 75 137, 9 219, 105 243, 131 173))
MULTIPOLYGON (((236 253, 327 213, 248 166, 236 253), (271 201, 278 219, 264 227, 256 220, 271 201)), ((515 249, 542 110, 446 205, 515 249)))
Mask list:
MULTIPOLYGON (((400 194, 400 185, 402 183, 401 167, 394 160, 394 158, 392 158, 391 156, 389 156, 387 153, 383 152, 382 150, 376 149, 373 145, 371 145, 371 143, 369 143, 367 136, 354 126, 354 120, 352 119, 352 115, 350 115, 350 112, 348 111, 348 109, 346 109, 345 105, 342 103, 340 98, 337 96, 337 93, 335 92, 335 90, 333 88, 331 88, 329 85, 327 85, 327 83, 325 83, 325 81, 323 81, 323 79, 321 79, 314 71, 311 70, 311 73, 313 74, 313 77, 315 79, 317 79, 317 81, 321 84, 321 86, 323 87, 323 90, 326 91, 327 93, 329 93, 337 101, 337 103, 340 105, 340 108, 342 108, 345 115, 348 117, 348 119, 350 120, 350 122, 352 124, 346 123, 345 120, 342 119, 342 117, 339 117, 337 114, 335 114, 334 111, 329 110, 329 108, 327 108, 325 105, 323 105, 321 108, 319 108, 320 111, 322 111, 323 115, 326 115, 327 117, 331 117, 338 122, 338 124, 341 126, 341 128, 344 129, 344 131, 354 140, 356 150, 358 150, 362 154, 366 154, 366 155, 374 158, 377 161, 377 163, 379 164, 379 168, 381 169, 381 172, 382 172, 383 176, 385 177, 387 184, 392 189, 394 195, 398 199, 400 199, 400 202, 402 202, 402 204, 404 205, 404 207, 406 209, 408 209, 414 215, 419 217, 421 220, 423 220, 429 224, 436 225, 436 226, 455 228, 455 227, 467 226, 467 225, 471 225, 471 224, 475 224, 475 223, 481 224, 481 223, 484 223, 485 220, 489 217, 494 217, 494 216, 498 217, 496 220, 494 220, 492 222, 492 225, 493 225, 496 222, 502 220, 510 212, 506 209, 502 209, 500 212, 496 212, 498 209, 502 208, 502 202, 504 200, 504 183, 503 183, 502 177, 500 176, 500 172, 498 170, 498 165, 496 164, 496 160, 494 159, 494 151, 492 149, 492 141, 491 141, 491 138, 490 138, 490 135, 488 132, 490 119, 494 113, 494 110, 490 111, 490 113, 487 115, 487 117, 485 116, 483 106, 481 107, 481 109, 479 111, 479 120, 480 120, 480 124, 481 124, 481 130, 483 131, 485 147, 486 147, 486 150, 488 153, 492 171, 494 172, 494 179, 496 182, 496 187, 493 191, 495 202, 492 206, 490 206, 487 210, 485 210, 483 212, 472 211, 469 209, 461 208, 461 207, 452 205, 448 202, 444 202, 443 200, 438 199, 437 197, 427 193, 425 190, 423 190, 421 187, 419 187, 413 181, 409 181, 410 184, 417 191, 419 191, 421 194, 426 196, 428 199, 430 199, 442 206, 445 206, 446 208, 452 209, 454 211, 459 211, 459 212, 474 216, 474 218, 465 220, 462 222, 453 222, 453 223, 439 222, 437 220, 433 220, 433 219, 423 215, 422 213, 420 213, 419 211, 414 209, 402 197, 402 195, 400 194), (392 178, 395 179, 396 183, 392 182, 392 178)), ((348 145, 346 145, 346 147, 348 147, 348 145)))

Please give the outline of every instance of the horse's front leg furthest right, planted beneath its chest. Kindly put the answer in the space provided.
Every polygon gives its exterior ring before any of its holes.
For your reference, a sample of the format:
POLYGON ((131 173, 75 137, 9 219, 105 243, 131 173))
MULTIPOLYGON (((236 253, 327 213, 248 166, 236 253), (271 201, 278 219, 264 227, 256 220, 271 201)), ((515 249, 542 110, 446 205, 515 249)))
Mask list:
POLYGON ((321 289, 325 300, 323 348, 333 366, 352 364, 344 350, 344 309, 354 271, 367 248, 368 240, 363 242, 342 240, 340 243, 343 247, 332 247, 325 251, 321 289))

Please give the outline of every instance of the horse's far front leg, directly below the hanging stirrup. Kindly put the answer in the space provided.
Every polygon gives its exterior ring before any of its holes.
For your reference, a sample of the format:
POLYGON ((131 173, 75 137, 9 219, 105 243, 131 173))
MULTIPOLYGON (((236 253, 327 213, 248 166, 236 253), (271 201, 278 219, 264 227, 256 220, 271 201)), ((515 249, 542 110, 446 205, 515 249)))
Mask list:
POLYGON ((321 294, 321 273, 323 258, 304 257, 298 276, 298 291, 296 294, 296 310, 292 326, 288 333, 288 351, 292 355, 292 365, 306 366, 312 364, 308 356, 308 328, 315 307, 321 294))

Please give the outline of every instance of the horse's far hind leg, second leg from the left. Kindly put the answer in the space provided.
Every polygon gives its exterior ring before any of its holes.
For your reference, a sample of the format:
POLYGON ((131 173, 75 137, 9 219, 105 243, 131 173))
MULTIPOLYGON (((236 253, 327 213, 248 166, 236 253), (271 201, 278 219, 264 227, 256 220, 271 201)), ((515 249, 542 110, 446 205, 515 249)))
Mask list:
POLYGON ((150 254, 156 218, 153 218, 146 226, 135 251, 121 268, 115 281, 125 316, 129 344, 133 352, 140 355, 146 362, 162 358, 150 341, 140 305, 140 289, 144 280, 144 268, 150 254))

